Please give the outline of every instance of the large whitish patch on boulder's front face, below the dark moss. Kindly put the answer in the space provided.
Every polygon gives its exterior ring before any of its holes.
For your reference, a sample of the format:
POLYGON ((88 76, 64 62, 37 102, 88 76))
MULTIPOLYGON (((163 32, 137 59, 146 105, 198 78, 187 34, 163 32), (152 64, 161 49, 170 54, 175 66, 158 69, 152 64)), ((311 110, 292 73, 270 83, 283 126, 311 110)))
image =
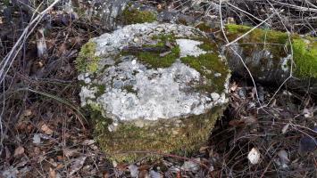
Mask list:
POLYGON ((156 120, 198 115, 213 107, 206 94, 189 92, 189 84, 197 84, 200 74, 180 62, 166 69, 146 69, 141 63, 125 61, 104 74, 102 84, 109 87, 96 101, 110 117, 156 120))

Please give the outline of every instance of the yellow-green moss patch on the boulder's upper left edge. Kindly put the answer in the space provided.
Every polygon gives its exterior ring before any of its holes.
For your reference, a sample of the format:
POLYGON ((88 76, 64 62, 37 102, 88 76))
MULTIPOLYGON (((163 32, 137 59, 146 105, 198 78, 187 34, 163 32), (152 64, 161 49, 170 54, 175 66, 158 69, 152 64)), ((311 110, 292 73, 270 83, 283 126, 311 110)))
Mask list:
POLYGON ((96 43, 88 42, 81 47, 76 59, 76 69, 80 72, 94 73, 98 69, 100 57, 95 55, 96 43))

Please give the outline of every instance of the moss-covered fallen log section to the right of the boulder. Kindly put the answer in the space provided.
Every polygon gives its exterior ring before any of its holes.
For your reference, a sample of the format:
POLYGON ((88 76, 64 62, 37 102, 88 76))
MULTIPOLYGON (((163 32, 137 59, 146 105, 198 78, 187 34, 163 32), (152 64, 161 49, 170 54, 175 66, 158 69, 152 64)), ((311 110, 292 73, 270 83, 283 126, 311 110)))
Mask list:
MULTIPOLYGON (((225 34, 232 42, 250 29, 227 25, 225 34)), ((219 37, 223 39, 222 34, 219 37)), ((224 53, 239 76, 250 77, 248 69, 257 81, 280 85, 288 79, 288 88, 317 94, 317 38, 256 28, 224 47, 224 53)))

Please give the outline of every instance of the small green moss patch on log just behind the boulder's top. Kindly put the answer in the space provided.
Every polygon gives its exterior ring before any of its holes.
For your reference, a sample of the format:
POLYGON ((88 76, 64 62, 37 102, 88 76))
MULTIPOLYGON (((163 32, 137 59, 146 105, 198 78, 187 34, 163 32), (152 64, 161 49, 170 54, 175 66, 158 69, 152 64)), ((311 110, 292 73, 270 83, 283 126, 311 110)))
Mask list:
POLYGON ((122 12, 121 20, 124 25, 154 22, 156 20, 156 14, 150 11, 140 11, 129 6, 122 12))

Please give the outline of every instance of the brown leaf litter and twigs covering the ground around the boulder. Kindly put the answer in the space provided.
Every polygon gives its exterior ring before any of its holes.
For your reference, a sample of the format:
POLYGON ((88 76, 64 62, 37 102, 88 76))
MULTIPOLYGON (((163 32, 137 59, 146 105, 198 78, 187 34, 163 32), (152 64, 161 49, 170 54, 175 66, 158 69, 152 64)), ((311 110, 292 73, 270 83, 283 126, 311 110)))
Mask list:
MULTIPOLYGON (((142 2, 180 10, 186 6, 186 1, 142 2)), ((206 2, 219 4, 219 1, 206 2)), ((255 25, 252 16, 243 11, 265 19, 274 8, 285 9, 288 12, 281 13, 285 23, 271 19, 271 28, 283 31, 288 28, 294 33, 316 36, 317 19, 310 18, 316 17, 317 4, 297 2, 291 6, 288 1, 273 2, 225 1, 222 18, 237 23, 246 20, 255 25), (304 9, 306 6, 313 10, 304 9), (298 10, 299 7, 302 9, 298 10)), ((29 25, 31 17, 21 7, 2 9, 0 59, 13 49, 29 25)), ((205 12, 206 8, 188 11, 201 16, 205 12)), ((219 13, 214 10, 209 15, 218 17, 219 13)), ((74 66, 80 46, 103 33, 100 20, 73 18, 63 10, 54 9, 32 30, 29 38, 23 39, 21 51, 16 53, 13 67, 1 85, 0 177, 317 176, 317 97, 309 91, 288 90, 285 85, 277 90, 277 86, 256 83, 256 98, 248 77, 235 76, 230 81, 228 109, 213 129, 208 144, 196 150, 195 155, 190 158, 163 155, 151 162, 145 157, 129 165, 110 161, 99 150, 88 117, 79 109, 78 73, 74 66), (47 25, 50 30, 45 33, 46 57, 38 58, 38 40, 44 39, 38 29, 47 25), (262 106, 258 105, 258 99, 262 106), (260 157, 254 160, 255 164, 248 158, 251 153, 255 159, 260 157)))

